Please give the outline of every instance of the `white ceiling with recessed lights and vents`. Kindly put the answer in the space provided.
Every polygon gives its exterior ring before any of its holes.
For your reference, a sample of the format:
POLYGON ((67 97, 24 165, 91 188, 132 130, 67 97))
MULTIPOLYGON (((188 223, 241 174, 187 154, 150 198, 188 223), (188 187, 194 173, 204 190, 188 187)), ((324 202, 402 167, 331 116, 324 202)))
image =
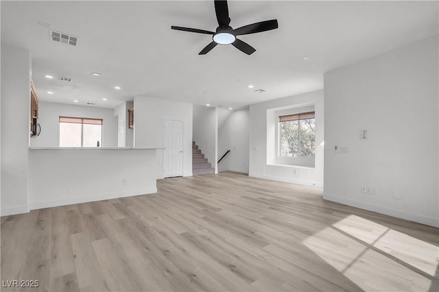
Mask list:
POLYGON ((211 36, 171 25, 215 31, 213 1, 1 1, 1 43, 29 50, 42 101, 115 107, 141 95, 237 108, 321 90, 324 72, 438 34, 438 1, 228 7, 233 28, 273 18, 279 28, 240 36, 252 55, 230 45, 198 55, 211 36), (50 40, 49 29, 78 36, 77 46, 50 40))

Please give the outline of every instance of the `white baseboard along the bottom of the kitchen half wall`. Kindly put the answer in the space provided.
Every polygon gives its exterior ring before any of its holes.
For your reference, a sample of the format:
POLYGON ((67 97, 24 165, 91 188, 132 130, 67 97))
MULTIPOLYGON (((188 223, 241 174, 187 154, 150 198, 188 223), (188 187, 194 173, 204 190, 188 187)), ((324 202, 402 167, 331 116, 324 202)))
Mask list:
POLYGON ((150 187, 147 189, 127 191, 127 192, 124 192, 123 194, 121 194, 121 193, 100 194, 98 196, 87 196, 87 197, 81 197, 81 198, 70 198, 70 199, 62 199, 62 200, 32 202, 29 204, 29 210, 65 206, 65 205, 69 205, 69 204, 80 204, 80 203, 85 203, 85 202, 95 202, 95 201, 100 201, 100 200, 117 199, 117 198, 131 197, 131 196, 139 196, 139 195, 145 195, 145 194, 154 194, 156 192, 157 192, 156 187, 150 187))

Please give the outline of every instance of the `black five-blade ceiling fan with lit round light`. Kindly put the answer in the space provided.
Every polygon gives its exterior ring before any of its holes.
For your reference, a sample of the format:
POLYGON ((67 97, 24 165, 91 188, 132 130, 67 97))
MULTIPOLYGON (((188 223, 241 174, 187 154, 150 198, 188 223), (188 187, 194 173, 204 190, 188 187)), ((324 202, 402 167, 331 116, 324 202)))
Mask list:
POLYGON ((250 44, 237 39, 237 36, 242 36, 244 34, 256 34, 257 32, 268 31, 278 28, 277 20, 272 19, 271 21, 261 21, 259 23, 253 23, 251 25, 245 25, 244 27, 239 27, 233 29, 230 27, 230 18, 228 17, 228 5, 227 1, 214 1, 215 3, 215 13, 217 14, 218 27, 215 32, 206 31, 203 29, 192 29, 189 27, 176 27, 171 26, 171 29, 195 32, 198 34, 211 34, 213 35, 213 41, 208 44, 204 49, 198 53, 198 55, 205 55, 209 53, 211 49, 215 48, 217 44, 232 44, 233 47, 239 49, 240 51, 251 55, 256 51, 250 44))

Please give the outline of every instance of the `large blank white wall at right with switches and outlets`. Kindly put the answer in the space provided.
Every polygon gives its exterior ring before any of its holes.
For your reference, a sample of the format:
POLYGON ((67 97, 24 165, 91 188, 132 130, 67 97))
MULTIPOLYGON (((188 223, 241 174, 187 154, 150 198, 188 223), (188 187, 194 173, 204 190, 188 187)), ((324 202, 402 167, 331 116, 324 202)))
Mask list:
POLYGON ((324 198, 439 226, 438 95, 437 36, 327 72, 324 198))

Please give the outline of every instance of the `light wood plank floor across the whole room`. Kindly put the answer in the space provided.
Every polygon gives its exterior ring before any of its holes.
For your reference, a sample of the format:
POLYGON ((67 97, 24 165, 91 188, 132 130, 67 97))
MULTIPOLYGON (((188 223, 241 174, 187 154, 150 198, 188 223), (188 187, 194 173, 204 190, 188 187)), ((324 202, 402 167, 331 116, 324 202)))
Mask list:
POLYGON ((2 291, 438 291, 438 228, 223 172, 1 217, 2 291))

